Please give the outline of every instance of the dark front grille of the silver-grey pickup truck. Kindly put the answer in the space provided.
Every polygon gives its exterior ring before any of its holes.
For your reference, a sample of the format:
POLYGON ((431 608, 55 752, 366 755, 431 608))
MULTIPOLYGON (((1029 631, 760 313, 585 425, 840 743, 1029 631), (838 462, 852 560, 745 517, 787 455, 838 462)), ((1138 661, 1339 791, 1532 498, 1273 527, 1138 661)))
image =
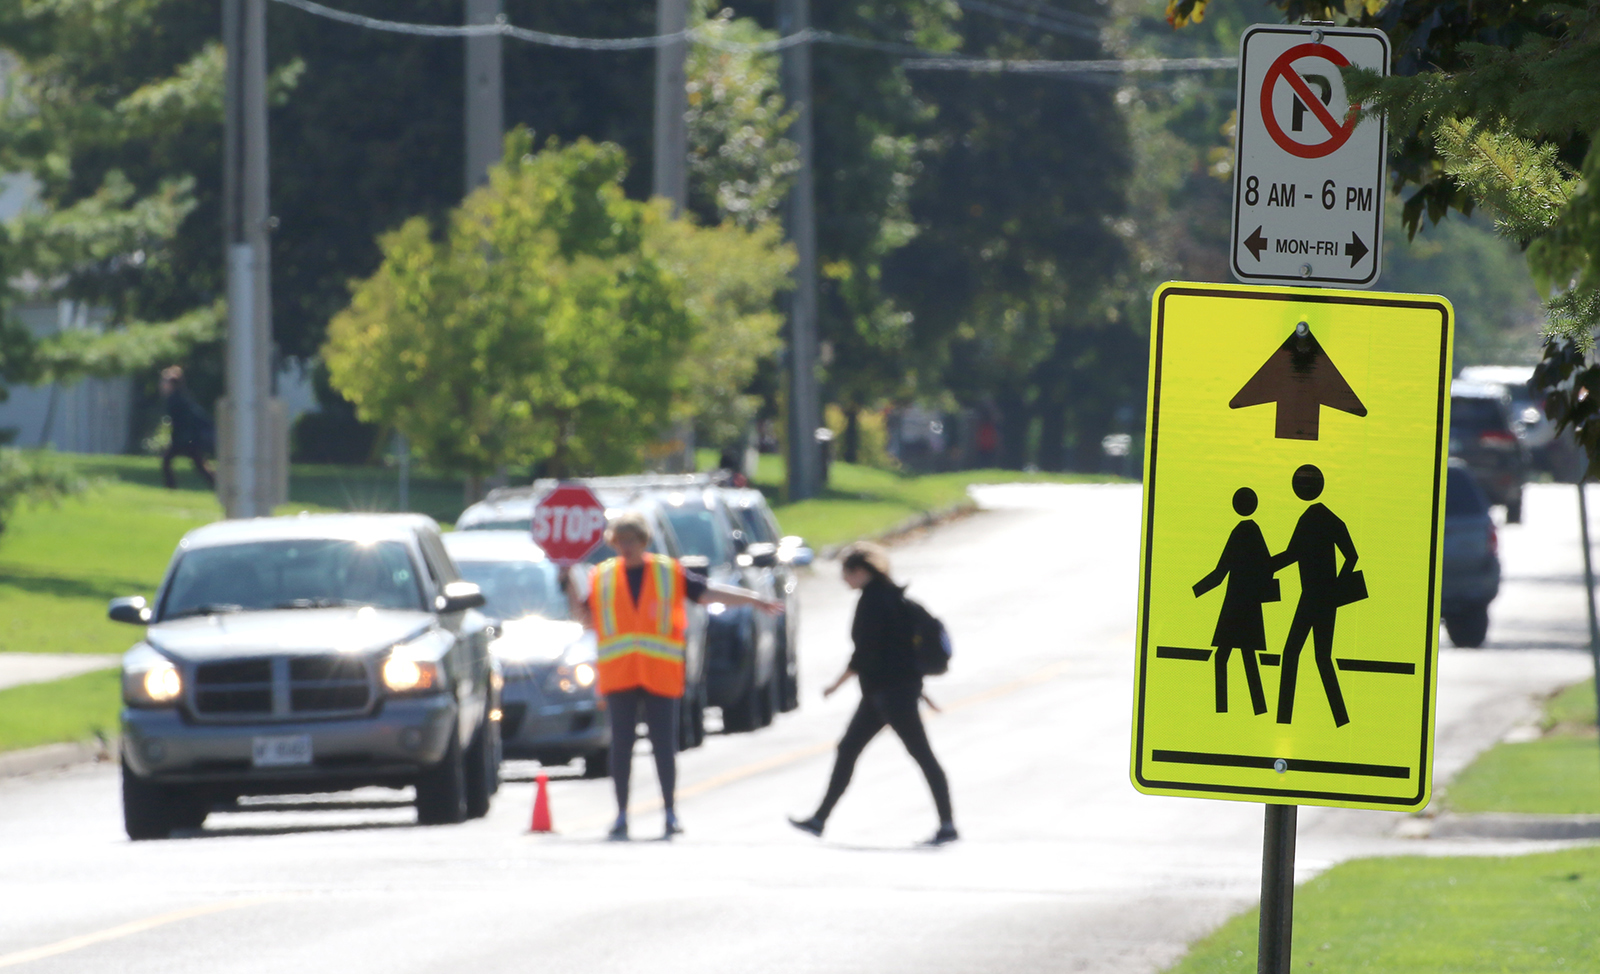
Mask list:
POLYGON ((366 662, 347 654, 230 659, 194 670, 192 704, 202 720, 347 717, 371 701, 366 662))

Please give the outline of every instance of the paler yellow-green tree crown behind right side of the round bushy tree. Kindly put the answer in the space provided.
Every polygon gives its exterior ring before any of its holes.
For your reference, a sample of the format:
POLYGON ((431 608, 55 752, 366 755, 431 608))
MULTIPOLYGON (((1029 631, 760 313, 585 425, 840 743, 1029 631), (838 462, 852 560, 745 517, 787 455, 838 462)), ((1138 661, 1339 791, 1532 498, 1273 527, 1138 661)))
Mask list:
POLYGON ((661 267, 682 285, 693 320, 674 413, 699 425, 707 443, 741 441, 758 401, 747 395, 763 360, 782 345, 774 296, 787 288, 794 249, 776 222, 752 230, 734 222, 699 227, 653 221, 646 240, 661 267))

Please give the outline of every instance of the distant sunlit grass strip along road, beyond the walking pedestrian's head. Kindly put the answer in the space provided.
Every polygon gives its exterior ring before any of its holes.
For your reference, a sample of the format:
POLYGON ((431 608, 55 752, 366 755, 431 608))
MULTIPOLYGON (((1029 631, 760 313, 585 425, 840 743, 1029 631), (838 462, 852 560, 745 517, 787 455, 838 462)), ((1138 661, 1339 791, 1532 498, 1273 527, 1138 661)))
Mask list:
MULTIPOLYGON (((702 467, 715 462, 702 451, 702 467)), ((966 501, 974 483, 1120 483, 1122 478, 1083 473, 1022 473, 1018 470, 957 470, 952 473, 904 475, 856 464, 835 462, 821 497, 782 504, 784 461, 763 454, 755 486, 768 496, 773 513, 786 534, 805 537, 811 547, 870 537, 915 515, 966 501)))

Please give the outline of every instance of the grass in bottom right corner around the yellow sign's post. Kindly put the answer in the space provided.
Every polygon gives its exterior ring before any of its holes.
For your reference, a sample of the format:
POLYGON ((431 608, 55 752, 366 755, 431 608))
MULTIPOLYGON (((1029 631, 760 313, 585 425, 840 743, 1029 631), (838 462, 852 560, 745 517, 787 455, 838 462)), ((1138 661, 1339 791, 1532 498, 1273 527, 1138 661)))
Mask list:
MULTIPOLYGON (((1294 894, 1294 969, 1405 974, 1600 971, 1600 848, 1539 856, 1357 859, 1294 894)), ((1250 974, 1256 912, 1170 974, 1250 974)))

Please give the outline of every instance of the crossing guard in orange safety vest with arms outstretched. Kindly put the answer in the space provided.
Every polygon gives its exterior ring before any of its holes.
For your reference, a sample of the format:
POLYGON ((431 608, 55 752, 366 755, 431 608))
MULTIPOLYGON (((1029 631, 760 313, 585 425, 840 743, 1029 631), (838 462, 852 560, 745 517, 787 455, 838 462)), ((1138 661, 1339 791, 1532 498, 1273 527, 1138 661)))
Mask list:
POLYGON ((650 728, 661 804, 667 811, 662 838, 683 832, 674 795, 677 787, 678 710, 683 705, 683 648, 688 635, 685 603, 752 605, 778 613, 782 603, 755 592, 718 585, 685 569, 677 560, 653 555, 650 521, 629 510, 611 518, 606 544, 616 552, 589 573, 589 592, 574 592, 568 573, 562 585, 573 617, 595 630, 598 689, 611 717, 611 782, 616 787, 616 824, 611 840, 627 838, 627 788, 640 715, 650 728))

